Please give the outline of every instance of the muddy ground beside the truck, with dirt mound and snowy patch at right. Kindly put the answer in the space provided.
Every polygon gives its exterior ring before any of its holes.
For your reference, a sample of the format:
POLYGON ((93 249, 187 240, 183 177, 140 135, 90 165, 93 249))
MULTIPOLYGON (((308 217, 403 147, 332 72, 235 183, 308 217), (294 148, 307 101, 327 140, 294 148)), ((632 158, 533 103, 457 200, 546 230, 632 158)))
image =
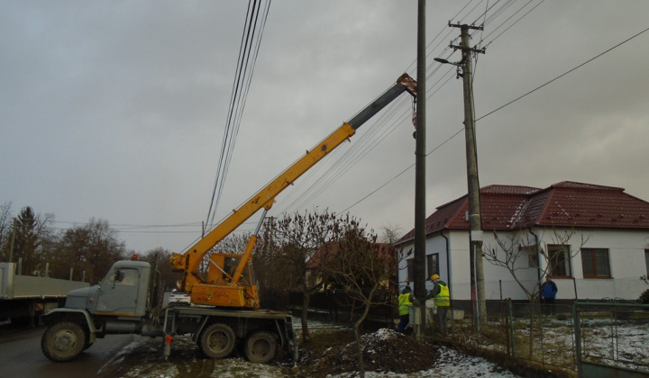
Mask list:
MULTIPOLYGON (((358 376, 356 343, 352 329, 317 327, 310 329, 311 341, 300 345, 297 364, 290 356, 279 356, 261 365, 245 360, 239 348, 223 359, 206 357, 188 337, 175 338, 171 356, 162 356, 161 338, 133 336, 98 372, 101 377, 138 378, 325 378, 358 376)), ((301 330, 297 329, 299 336, 301 330)), ((419 342, 394 330, 379 329, 361 337, 365 371, 372 376, 473 376, 518 377, 480 357, 466 356, 448 347, 419 342), (413 374, 413 375, 410 375, 413 374), (405 376, 405 375, 404 375, 405 376)), ((523 375, 538 376, 538 375, 523 375)), ((544 377, 549 376, 545 375, 544 377)))

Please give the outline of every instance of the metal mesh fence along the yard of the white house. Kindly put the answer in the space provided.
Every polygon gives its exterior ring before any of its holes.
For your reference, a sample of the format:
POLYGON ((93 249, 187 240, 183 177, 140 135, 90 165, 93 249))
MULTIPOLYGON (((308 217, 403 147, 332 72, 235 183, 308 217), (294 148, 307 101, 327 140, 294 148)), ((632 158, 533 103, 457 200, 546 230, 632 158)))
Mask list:
POLYGON ((487 321, 479 327, 474 326, 471 311, 453 306, 446 335, 438 334, 435 309, 427 308, 426 329, 432 330, 435 338, 463 349, 490 351, 510 361, 525 361, 526 365, 567 375, 649 374, 649 305, 544 305, 508 300, 486 304, 487 321))

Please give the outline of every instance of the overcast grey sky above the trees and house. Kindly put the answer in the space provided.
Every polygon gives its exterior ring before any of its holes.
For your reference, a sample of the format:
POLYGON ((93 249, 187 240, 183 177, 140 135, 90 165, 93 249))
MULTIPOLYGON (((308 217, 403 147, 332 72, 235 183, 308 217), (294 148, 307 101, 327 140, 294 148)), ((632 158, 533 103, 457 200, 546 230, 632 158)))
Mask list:
MULTIPOLYGON (((485 22, 471 40, 487 48, 474 67, 480 186, 577 181, 649 201, 649 32, 595 58, 649 27, 649 2, 501 3, 427 4, 426 213, 467 191, 463 132, 449 139, 463 127, 462 80, 433 61, 460 59, 447 49, 460 35, 450 20, 485 22)), ((136 251, 182 251, 206 220, 246 11, 0 0, 0 203, 53 214, 58 229, 107 220, 136 251)), ((216 219, 402 73, 416 77, 415 60, 414 0, 272 2, 216 219)), ((412 229, 411 106, 402 94, 270 215, 317 206, 378 232, 412 229), (374 147, 344 175, 324 175, 363 143, 374 147), (306 197, 310 187, 324 191, 306 197)))

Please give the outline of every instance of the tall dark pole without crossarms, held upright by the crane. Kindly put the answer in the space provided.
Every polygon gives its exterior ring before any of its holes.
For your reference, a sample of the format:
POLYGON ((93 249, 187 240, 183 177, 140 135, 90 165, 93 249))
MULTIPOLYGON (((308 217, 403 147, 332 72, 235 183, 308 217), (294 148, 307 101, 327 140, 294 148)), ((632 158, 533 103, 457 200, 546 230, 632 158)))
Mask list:
MULTIPOLYGON (((413 277, 415 298, 425 303, 425 0, 417 5, 417 107, 415 148, 415 257, 413 277)), ((421 326, 417 338, 421 338, 425 327, 425 309, 421 313, 421 326)))

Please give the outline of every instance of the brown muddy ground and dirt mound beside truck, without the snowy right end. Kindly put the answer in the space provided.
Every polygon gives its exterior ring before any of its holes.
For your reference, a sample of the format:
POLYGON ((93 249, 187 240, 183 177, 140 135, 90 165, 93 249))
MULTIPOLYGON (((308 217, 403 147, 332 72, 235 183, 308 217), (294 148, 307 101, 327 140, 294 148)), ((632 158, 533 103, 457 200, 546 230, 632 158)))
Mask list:
MULTIPOLYGON (((162 356, 160 338, 133 337, 133 343, 105 366, 104 373, 120 377, 326 377, 358 371, 358 349, 351 329, 313 329, 312 341, 300 346, 295 364, 289 356, 269 365, 251 364, 242 351, 215 360, 203 355, 189 338, 174 339, 169 360, 162 356)), ((410 373, 426 370, 437 356, 434 347, 379 329, 362 336, 366 371, 410 373)), ((101 375, 101 374, 100 374, 101 375)))

